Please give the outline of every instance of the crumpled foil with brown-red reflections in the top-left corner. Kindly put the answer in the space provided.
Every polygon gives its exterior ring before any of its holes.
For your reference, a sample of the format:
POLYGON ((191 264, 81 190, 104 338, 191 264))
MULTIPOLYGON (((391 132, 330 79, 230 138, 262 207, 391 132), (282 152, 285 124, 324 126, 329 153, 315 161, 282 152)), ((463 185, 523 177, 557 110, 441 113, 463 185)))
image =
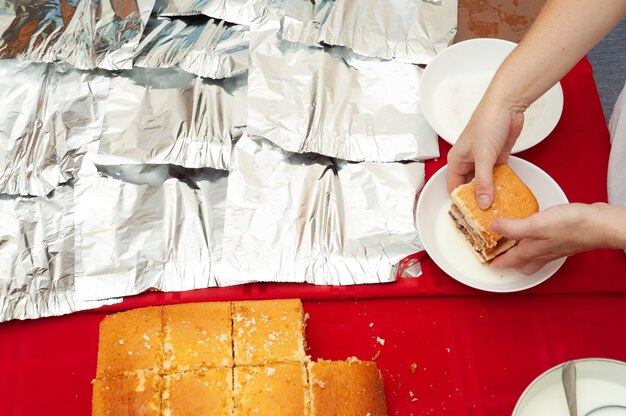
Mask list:
POLYGON ((0 59, 118 70, 132 68, 155 0, 12 3, 12 12, 0 15, 0 59))

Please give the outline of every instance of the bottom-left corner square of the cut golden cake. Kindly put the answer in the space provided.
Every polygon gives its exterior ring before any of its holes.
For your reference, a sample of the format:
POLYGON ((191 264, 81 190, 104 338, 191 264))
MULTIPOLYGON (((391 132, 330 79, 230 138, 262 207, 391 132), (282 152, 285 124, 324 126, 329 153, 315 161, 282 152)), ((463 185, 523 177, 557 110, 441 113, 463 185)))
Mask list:
POLYGON ((92 416, 160 416, 162 379, 151 371, 97 378, 92 416))

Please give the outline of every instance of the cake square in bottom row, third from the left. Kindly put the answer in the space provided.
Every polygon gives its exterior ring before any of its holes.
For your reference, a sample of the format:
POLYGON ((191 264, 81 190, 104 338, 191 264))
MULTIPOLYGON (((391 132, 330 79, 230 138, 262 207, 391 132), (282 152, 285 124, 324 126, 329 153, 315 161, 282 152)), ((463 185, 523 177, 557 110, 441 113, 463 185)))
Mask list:
POLYGON ((234 416, 308 416, 306 367, 302 363, 235 367, 234 416))

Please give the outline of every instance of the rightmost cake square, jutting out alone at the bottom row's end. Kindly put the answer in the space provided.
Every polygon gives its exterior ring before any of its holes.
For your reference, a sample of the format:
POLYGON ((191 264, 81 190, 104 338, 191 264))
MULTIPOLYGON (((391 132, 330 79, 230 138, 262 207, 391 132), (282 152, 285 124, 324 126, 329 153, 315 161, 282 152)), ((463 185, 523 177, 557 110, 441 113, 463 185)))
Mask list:
POLYGON ((383 380, 371 361, 317 361, 308 365, 310 416, 386 416, 383 380))

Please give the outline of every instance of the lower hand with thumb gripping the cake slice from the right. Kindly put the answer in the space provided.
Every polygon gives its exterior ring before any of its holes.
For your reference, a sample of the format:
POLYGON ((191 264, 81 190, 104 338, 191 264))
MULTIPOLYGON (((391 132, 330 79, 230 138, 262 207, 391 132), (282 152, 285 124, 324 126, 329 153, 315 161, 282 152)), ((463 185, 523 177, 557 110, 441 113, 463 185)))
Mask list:
POLYGON ((490 266, 512 267, 531 275, 558 258, 606 246, 602 228, 594 225, 603 209, 599 205, 557 205, 522 220, 492 222, 493 232, 519 244, 496 257, 490 266))

